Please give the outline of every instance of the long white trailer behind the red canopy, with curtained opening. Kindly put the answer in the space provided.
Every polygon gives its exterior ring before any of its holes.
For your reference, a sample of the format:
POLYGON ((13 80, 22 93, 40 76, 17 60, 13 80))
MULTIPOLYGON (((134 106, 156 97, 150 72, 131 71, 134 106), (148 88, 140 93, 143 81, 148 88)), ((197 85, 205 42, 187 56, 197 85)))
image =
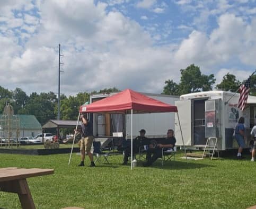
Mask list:
MULTIPOLYGON (((95 94, 90 97, 90 103, 96 102, 99 99, 112 96, 111 94, 95 94)), ((157 99, 158 101, 174 105, 175 101, 179 100, 178 96, 142 93, 148 97, 157 99)), ((133 115, 133 133, 134 137, 139 135, 140 129, 146 130, 148 138, 166 137, 168 129, 175 129, 174 113, 145 113, 133 115)), ((121 114, 100 114, 93 113, 93 134, 99 137, 111 136, 113 132, 123 132, 127 139, 131 135, 130 114, 126 117, 121 114), (103 116, 103 120, 102 120, 103 116), (105 130, 105 131, 104 131, 105 130)))

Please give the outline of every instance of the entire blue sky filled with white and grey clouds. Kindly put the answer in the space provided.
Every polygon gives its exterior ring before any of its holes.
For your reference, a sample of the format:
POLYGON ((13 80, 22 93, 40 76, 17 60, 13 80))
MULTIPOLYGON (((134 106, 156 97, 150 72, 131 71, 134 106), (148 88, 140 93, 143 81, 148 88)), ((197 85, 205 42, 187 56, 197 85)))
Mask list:
POLYGON ((0 0, 0 85, 161 93, 191 63, 217 83, 256 68, 255 0, 0 0))

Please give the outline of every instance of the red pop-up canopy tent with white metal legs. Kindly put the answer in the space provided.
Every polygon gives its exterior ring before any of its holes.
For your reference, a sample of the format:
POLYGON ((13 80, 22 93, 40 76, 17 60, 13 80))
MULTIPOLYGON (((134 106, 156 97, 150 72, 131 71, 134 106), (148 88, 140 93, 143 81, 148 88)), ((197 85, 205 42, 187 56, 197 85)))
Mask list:
MULTIPOLYGON (((101 99, 89 105, 82 105, 80 113, 122 113, 131 114, 131 148, 133 148, 133 114, 134 113, 157 113, 175 112, 178 114, 176 106, 172 106, 151 97, 145 96, 131 89, 123 90, 120 93, 101 99)), ((79 116, 78 116, 79 117, 79 116)), ((179 114, 178 114, 179 119, 179 114)), ((180 119, 179 119, 180 125, 180 119)), ((180 126, 181 129, 181 126, 180 126)), ((181 131, 183 141, 183 135, 181 131)), ((184 141, 183 141, 184 145, 184 141)), ((185 150, 186 153, 186 150, 185 150)), ((187 157, 187 155, 186 155, 187 157)), ((131 149, 131 161, 133 161, 133 149, 131 149)), ((133 163, 131 163, 131 168, 133 163)))

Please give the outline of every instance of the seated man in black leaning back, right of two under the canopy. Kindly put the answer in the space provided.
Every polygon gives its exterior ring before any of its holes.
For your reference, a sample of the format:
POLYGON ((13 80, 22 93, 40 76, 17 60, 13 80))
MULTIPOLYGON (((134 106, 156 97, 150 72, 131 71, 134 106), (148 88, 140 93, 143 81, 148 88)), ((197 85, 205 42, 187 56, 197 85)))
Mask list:
POLYGON ((162 148, 165 150, 169 148, 173 148, 176 143, 176 139, 173 136, 174 132, 172 129, 169 129, 167 131, 167 138, 162 140, 161 143, 151 143, 149 144, 149 149, 147 150, 147 162, 144 163, 144 166, 151 166, 154 161, 157 160, 157 158, 162 157, 162 148), (153 156, 152 156, 153 154, 153 156))

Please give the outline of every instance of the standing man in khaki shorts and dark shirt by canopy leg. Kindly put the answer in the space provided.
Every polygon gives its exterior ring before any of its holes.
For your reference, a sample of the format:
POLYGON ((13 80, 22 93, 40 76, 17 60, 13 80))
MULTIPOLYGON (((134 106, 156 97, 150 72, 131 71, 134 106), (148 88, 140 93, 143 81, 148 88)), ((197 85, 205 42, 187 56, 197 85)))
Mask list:
POLYGON ((90 167, 95 167, 95 164, 93 162, 93 155, 91 153, 91 148, 93 143, 92 125, 83 114, 80 115, 80 119, 81 119, 80 133, 81 133, 82 139, 80 140, 81 162, 78 166, 84 166, 85 151, 86 151, 91 161, 90 167))

